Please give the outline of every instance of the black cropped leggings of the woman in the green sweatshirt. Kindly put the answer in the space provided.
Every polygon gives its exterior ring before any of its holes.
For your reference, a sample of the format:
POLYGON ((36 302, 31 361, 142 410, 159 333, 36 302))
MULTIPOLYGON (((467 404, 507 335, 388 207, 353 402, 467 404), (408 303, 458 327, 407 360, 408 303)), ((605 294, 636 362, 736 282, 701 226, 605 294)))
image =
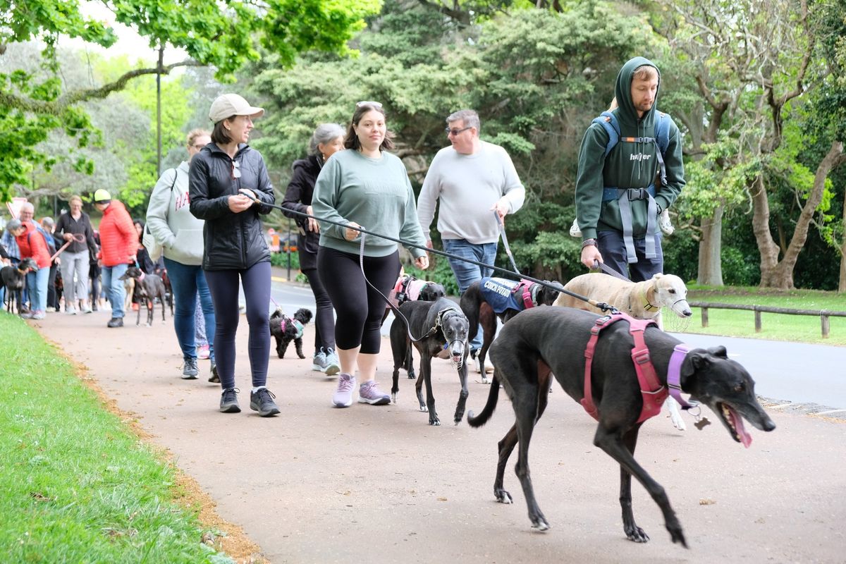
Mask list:
MULTIPOLYGON (((387 256, 365 256, 364 262, 367 280, 387 296, 399 276, 398 251, 387 256)), ((379 353, 385 298, 365 282, 359 256, 321 247, 317 251, 317 271, 338 314, 338 348, 349 350, 361 345, 360 353, 379 353)))

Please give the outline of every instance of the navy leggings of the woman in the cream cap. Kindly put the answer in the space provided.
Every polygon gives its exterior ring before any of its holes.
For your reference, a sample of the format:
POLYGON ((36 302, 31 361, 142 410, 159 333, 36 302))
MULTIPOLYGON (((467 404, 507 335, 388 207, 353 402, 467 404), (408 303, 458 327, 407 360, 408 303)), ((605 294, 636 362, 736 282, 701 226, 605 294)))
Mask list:
POLYGON ((270 360, 270 263, 258 262, 245 271, 205 271, 206 282, 214 304, 217 326, 214 332, 214 354, 217 375, 224 390, 235 387, 235 332, 238 331, 238 282, 244 286, 250 340, 250 370, 253 387, 267 383, 270 360))

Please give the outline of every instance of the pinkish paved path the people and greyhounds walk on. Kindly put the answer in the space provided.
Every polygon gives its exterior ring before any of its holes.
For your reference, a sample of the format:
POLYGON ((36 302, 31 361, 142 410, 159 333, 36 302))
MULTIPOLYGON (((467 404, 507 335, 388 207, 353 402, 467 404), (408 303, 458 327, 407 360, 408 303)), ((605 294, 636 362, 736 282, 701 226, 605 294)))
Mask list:
MULTIPOLYGON (((236 367, 241 407, 218 413, 220 389, 179 378, 173 320, 107 329, 108 312, 50 314, 31 322, 85 364, 118 408, 137 414, 153 441, 241 525, 263 555, 282 562, 843 562, 846 546, 846 423, 771 410, 777 430, 750 430, 744 449, 715 424, 678 432, 669 419, 640 431, 637 458, 667 490, 688 539, 673 545, 656 504, 637 483, 634 512, 651 541, 625 539, 618 467, 592 445, 596 428, 556 386, 531 451, 536 496, 552 524, 532 532, 514 476, 514 505, 494 501, 497 441, 513 423, 504 393, 492 421, 455 426, 459 385, 435 360, 442 421, 427 424, 401 374, 397 405, 330 407, 332 380, 310 359, 270 361, 268 385, 282 413, 249 409, 247 324, 241 317, 236 367)), ((312 342, 308 326, 305 342, 312 342)), ((309 348, 307 347, 306 350, 309 348)), ((379 381, 390 387, 383 341, 379 381)), ((205 376, 208 362, 201 361, 205 376)), ((468 407, 480 411, 488 386, 471 375, 468 407)), ((786 398, 789 399, 789 398, 786 398)), ((706 410, 707 411, 707 410, 706 410)), ((687 416, 685 416, 687 417, 687 416)), ((749 425, 747 425, 749 427, 749 425)))

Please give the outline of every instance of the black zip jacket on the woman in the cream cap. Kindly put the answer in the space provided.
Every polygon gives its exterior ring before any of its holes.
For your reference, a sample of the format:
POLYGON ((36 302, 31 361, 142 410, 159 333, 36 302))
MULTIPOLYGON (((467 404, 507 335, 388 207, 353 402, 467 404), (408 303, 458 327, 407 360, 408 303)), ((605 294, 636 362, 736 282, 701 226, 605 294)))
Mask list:
POLYGON ((244 270, 270 260, 259 214, 270 213, 272 208, 255 204, 249 210, 233 213, 228 198, 242 188, 251 189, 266 204, 275 200, 264 159, 249 145, 240 145, 231 159, 217 145, 209 143, 191 159, 190 210, 195 217, 206 221, 203 270, 244 270), (241 178, 233 178, 233 161, 239 163, 241 178))

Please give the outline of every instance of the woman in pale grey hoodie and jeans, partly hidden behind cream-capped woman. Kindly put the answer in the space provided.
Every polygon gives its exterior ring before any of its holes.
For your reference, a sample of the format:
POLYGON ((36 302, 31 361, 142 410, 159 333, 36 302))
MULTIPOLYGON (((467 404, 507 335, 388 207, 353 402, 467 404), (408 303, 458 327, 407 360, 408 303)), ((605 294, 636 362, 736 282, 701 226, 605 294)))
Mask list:
POLYGON ((147 228, 156 242, 162 245, 164 266, 173 287, 173 301, 176 303, 173 328, 184 359, 182 377, 194 380, 199 373, 194 321, 199 293, 211 358, 209 381, 219 382, 214 347, 211 345, 214 340, 214 308, 201 266, 203 221, 191 215, 188 205, 189 162, 209 143, 211 136, 204 129, 194 129, 188 134, 188 162, 179 163, 179 167, 165 171, 158 179, 147 207, 147 228))

